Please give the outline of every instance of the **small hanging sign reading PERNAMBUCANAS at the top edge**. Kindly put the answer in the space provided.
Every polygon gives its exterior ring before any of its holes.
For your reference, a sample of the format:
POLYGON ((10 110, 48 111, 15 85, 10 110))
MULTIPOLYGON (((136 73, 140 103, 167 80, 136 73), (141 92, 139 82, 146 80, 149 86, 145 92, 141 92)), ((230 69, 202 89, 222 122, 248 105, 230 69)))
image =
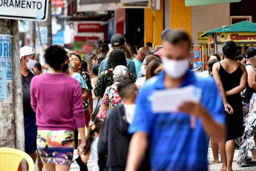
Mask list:
POLYGON ((121 8, 151 8, 151 0, 121 0, 121 8))

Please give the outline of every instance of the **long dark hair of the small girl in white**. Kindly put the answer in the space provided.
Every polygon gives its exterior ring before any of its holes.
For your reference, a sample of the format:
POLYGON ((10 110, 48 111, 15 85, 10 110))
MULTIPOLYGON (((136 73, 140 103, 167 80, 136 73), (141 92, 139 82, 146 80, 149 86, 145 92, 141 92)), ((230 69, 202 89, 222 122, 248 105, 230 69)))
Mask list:
POLYGON ((97 117, 95 118, 95 120, 94 120, 95 128, 92 129, 92 126, 90 127, 89 134, 86 138, 86 145, 84 147, 84 155, 90 153, 91 145, 93 143, 93 140, 95 139, 94 138, 95 132, 100 133, 103 122, 104 122, 104 119, 97 118, 97 117))

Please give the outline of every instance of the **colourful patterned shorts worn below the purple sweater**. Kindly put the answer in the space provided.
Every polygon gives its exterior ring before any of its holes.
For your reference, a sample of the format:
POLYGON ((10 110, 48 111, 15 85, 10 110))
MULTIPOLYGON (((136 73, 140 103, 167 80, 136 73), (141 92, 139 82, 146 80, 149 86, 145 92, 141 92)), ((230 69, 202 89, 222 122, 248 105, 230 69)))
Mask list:
POLYGON ((71 165, 74 151, 74 133, 66 130, 38 130, 37 149, 43 163, 71 165))

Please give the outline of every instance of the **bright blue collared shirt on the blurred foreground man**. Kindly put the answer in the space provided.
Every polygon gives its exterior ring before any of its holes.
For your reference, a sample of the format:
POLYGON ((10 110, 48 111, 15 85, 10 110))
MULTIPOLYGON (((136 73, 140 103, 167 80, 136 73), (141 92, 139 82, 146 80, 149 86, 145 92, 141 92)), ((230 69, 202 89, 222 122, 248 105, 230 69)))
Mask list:
MULTIPOLYGON (((201 120, 197 118, 196 127, 191 128, 190 115, 153 113, 151 110, 150 96, 155 90, 165 89, 164 75, 151 78, 140 89, 129 132, 146 132, 149 135, 152 170, 207 171, 208 149, 201 120)), ((202 89, 202 105, 216 122, 225 124, 226 113, 213 78, 199 77, 188 71, 180 87, 188 85, 202 89)))

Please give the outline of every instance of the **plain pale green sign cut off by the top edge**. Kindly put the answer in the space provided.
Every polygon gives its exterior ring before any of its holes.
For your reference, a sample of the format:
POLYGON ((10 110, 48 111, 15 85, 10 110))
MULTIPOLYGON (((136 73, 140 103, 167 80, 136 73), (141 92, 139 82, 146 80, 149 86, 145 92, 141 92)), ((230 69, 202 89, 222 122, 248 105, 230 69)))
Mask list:
POLYGON ((209 5, 217 3, 233 3, 241 0, 185 0, 185 6, 209 5))

